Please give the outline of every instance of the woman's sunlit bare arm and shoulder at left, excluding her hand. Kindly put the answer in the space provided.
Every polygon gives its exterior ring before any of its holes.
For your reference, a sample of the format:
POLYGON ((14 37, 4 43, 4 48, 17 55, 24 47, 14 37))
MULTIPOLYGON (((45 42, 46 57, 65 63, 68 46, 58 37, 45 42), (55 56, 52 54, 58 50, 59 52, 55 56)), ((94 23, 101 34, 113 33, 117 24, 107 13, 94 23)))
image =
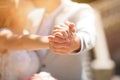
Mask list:
MULTIPOLYGON (((8 5, 7 1, 3 1, 2 5, 8 5)), ((47 36, 25 35, 23 33, 26 26, 31 24, 27 15, 33 9, 34 5, 29 0, 21 0, 17 8, 15 4, 13 5, 10 2, 8 7, 0 8, 1 53, 6 53, 8 50, 38 50, 48 48, 49 41, 47 36), (10 21, 8 21, 9 19, 10 21), (5 29, 2 30, 2 28, 5 29)))

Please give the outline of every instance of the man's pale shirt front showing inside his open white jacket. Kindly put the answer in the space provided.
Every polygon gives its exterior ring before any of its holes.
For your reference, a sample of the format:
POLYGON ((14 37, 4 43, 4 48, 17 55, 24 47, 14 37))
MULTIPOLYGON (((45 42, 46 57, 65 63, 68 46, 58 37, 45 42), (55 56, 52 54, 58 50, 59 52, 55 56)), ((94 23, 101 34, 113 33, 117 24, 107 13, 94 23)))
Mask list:
MULTIPOLYGON (((61 10, 62 4, 58 6, 54 12, 47 14, 44 14, 44 18, 39 26, 37 34, 41 36, 48 36, 50 35, 51 29, 54 27, 54 19, 57 13, 61 10)), ((46 50, 40 50, 40 53, 44 56, 46 54, 46 50)))

